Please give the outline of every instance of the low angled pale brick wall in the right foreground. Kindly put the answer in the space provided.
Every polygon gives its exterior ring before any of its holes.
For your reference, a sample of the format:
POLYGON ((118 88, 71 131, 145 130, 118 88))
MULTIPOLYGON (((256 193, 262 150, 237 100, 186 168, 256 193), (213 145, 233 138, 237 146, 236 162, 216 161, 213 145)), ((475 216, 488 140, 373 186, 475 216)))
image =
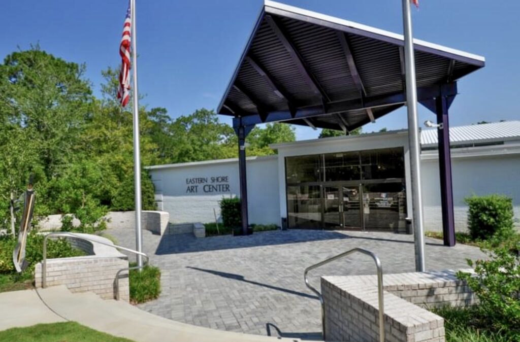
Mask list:
MULTIPOLYGON (((426 308, 476 300, 454 272, 385 274, 383 290, 385 340, 390 342, 443 342, 444 319, 426 308)), ((379 340, 375 275, 322 277, 321 291, 327 340, 379 340)))

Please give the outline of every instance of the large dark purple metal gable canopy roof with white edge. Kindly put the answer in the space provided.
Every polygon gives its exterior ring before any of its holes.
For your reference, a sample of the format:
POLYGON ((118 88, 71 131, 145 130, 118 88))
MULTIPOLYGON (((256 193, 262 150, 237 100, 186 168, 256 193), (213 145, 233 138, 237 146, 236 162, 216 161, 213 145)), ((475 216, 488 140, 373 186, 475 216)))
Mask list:
MULTIPOLYGON (((403 46, 400 34, 266 1, 217 113, 235 117, 235 128, 286 122, 348 133, 406 104, 403 46)), ((439 94, 452 99, 456 81, 485 65, 444 46, 414 47, 426 106, 439 94)))

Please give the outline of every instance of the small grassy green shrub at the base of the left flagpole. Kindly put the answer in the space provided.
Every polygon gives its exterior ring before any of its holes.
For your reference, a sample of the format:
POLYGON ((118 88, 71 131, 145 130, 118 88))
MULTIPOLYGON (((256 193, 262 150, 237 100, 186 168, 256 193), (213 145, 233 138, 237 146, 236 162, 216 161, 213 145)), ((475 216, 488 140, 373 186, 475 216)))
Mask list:
MULTIPOLYGON (((135 262, 131 267, 137 266, 135 262)), ((135 303, 157 299, 161 294, 161 270, 147 265, 139 270, 130 270, 129 274, 130 300, 135 303)))

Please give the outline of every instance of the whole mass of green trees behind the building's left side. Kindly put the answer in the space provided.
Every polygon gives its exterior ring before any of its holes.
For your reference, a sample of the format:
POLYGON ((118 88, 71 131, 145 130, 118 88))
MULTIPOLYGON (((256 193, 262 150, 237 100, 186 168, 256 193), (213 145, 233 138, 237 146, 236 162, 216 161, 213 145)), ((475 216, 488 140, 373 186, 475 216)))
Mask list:
MULTIPOLYGON (((0 64, 0 229, 9 222, 10 195, 22 195, 30 174, 36 216, 71 213, 89 231, 102 227, 107 211, 134 208, 132 108, 116 99, 117 69, 102 72, 96 98, 85 68, 39 46, 0 64)), ((164 108, 141 107, 139 128, 143 165, 238 155, 235 132, 212 110, 173 120, 164 108)), ((275 153, 269 144, 294 140, 290 125, 256 127, 247 138, 248 154, 275 153)), ((146 170, 141 183, 144 209, 154 209, 146 170)))

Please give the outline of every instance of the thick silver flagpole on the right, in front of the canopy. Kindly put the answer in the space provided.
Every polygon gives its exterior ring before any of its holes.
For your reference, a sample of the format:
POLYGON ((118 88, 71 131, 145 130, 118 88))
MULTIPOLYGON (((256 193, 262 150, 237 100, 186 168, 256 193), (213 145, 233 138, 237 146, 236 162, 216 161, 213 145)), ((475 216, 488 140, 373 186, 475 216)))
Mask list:
POLYGON ((415 271, 424 272, 424 228, 421 194, 421 155, 417 115, 417 82, 413 52, 410 0, 402 0, 402 21, 405 31, 406 101, 408 108, 408 144, 410 146, 412 223, 415 243, 415 271))

